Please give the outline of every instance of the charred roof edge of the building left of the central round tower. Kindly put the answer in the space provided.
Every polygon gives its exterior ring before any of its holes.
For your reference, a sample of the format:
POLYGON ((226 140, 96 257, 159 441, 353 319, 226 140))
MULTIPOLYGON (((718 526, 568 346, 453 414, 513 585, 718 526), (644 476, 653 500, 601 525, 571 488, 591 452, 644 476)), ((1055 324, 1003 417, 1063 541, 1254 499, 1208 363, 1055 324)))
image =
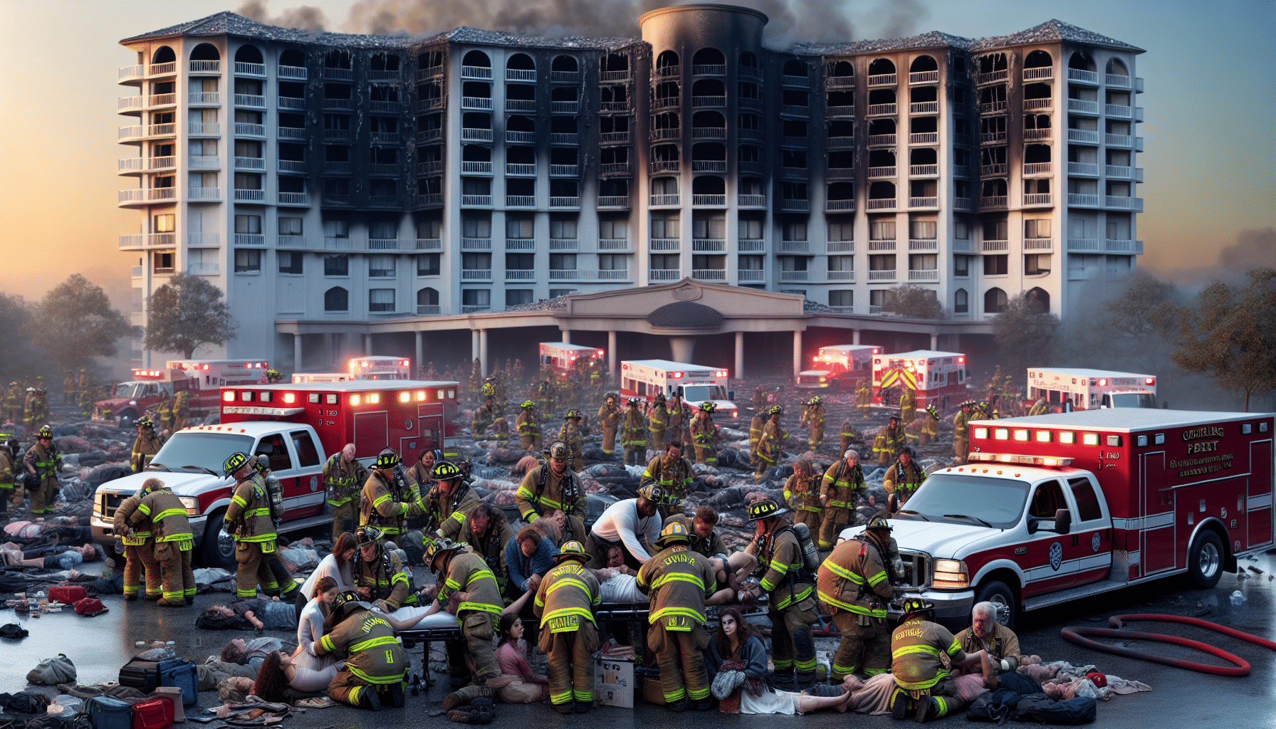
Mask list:
POLYGON ((500 31, 482 31, 478 28, 459 27, 445 33, 434 36, 408 37, 403 36, 369 36, 359 33, 315 33, 297 28, 281 28, 267 26, 237 13, 225 10, 216 15, 179 23, 140 36, 124 38, 121 43, 133 41, 145 41, 152 38, 171 38, 175 36, 239 36, 244 38, 258 38, 263 41, 278 41, 292 43, 315 43, 332 47, 351 49, 408 49, 412 46, 430 45, 438 42, 453 42, 481 46, 524 47, 524 49, 563 49, 563 50, 596 50, 614 51, 628 46, 642 43, 638 38, 583 38, 563 37, 545 38, 537 36, 516 36, 500 31))

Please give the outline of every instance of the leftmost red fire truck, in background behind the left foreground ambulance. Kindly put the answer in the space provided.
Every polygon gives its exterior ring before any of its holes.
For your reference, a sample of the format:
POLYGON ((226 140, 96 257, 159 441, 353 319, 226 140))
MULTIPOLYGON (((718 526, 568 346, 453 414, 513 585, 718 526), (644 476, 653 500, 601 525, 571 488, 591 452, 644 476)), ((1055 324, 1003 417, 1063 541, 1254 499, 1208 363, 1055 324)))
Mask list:
POLYGON ((182 391, 190 391, 190 416, 203 417, 216 411, 221 386, 264 382, 268 369, 268 363, 256 360, 170 360, 163 369, 133 368, 133 379, 93 403, 91 419, 129 428, 161 400, 182 391))

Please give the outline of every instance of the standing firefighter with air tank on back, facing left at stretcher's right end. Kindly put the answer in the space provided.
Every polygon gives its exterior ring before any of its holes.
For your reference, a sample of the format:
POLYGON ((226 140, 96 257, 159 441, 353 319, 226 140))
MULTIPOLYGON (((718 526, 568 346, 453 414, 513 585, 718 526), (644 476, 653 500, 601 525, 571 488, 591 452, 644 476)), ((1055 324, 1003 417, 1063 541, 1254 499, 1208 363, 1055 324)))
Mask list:
POLYGON ((767 592, 776 688, 794 691, 815 678, 815 640, 810 633, 810 624, 819 620, 815 576, 806 569, 798 534, 782 518, 787 507, 758 499, 746 512, 757 526, 745 552, 757 555, 763 571, 758 587, 750 591, 767 592))

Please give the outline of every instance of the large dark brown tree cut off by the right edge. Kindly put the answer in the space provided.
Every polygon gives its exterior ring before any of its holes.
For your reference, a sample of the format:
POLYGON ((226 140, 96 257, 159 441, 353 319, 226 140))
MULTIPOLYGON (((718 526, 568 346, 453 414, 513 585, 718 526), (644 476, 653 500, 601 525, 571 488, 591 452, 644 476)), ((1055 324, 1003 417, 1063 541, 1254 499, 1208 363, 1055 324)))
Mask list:
POLYGON ((1210 377, 1243 401, 1276 389, 1276 268, 1256 268, 1244 286, 1215 282, 1178 312, 1170 359, 1210 377))

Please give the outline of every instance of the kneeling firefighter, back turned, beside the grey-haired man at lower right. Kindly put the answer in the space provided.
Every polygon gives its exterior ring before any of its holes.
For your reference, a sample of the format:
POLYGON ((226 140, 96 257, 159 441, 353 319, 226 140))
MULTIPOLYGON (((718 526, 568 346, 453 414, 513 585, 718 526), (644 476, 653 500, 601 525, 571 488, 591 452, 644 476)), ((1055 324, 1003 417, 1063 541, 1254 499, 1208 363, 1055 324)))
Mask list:
POLYGON ((891 636, 891 674, 894 693, 891 714, 903 719, 916 707, 917 721, 938 719, 961 711, 968 703, 958 696, 957 682, 951 678, 939 654, 947 654, 952 665, 977 664, 984 651, 966 654, 948 628, 933 622, 934 605, 921 597, 903 600, 903 619, 891 636))

